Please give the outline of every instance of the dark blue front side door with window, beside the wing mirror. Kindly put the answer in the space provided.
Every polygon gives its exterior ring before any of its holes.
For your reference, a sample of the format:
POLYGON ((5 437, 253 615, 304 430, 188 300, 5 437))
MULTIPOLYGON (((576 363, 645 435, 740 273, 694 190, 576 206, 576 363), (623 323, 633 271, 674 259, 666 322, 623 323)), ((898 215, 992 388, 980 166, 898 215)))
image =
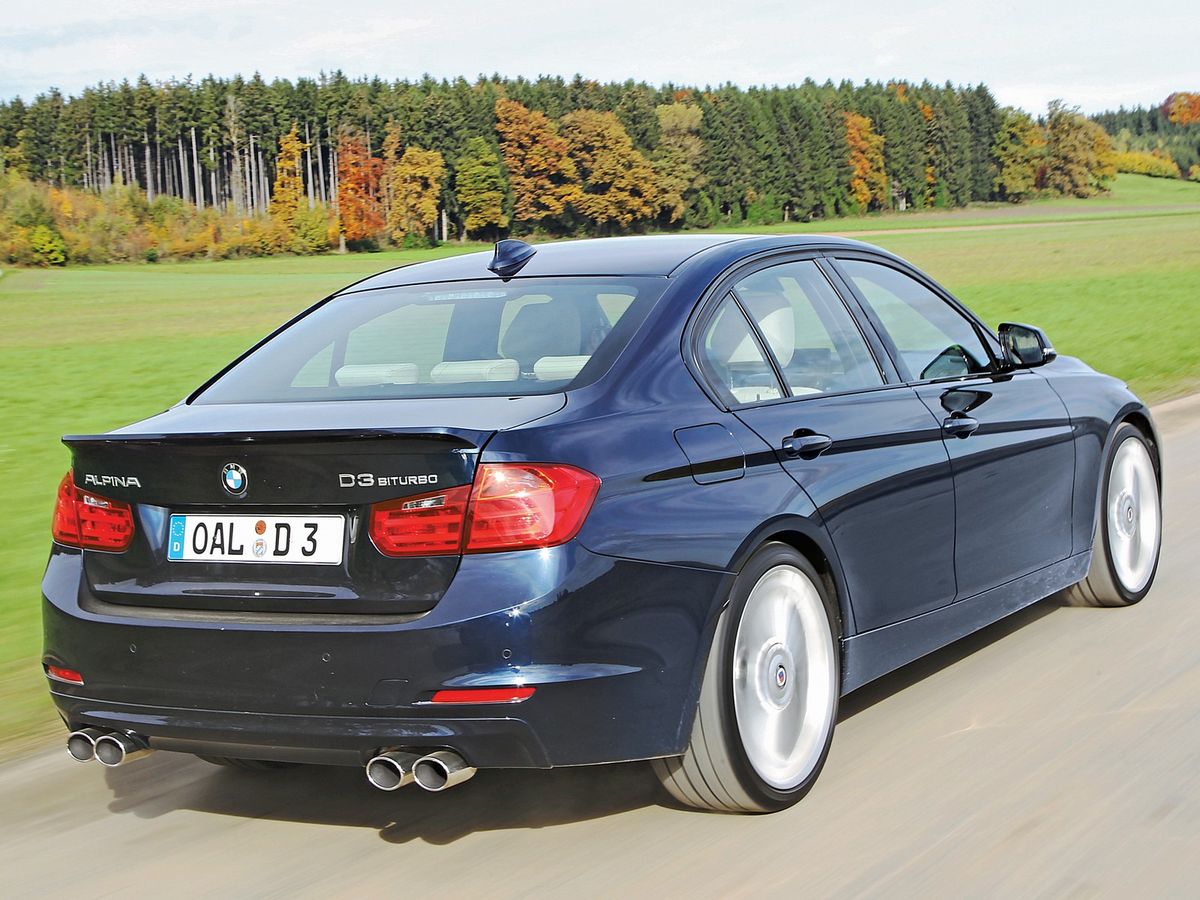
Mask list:
POLYGON ((896 367, 942 425, 954 467, 958 596, 1070 554, 1070 419, 1038 373, 1000 371, 982 325, 882 259, 839 258, 896 367))

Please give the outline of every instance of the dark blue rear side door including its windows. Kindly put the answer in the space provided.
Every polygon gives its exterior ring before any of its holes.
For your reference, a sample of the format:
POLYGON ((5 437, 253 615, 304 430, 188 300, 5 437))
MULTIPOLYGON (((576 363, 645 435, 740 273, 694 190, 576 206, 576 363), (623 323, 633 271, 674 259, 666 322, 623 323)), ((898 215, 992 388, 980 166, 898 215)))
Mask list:
POLYGON ((700 329, 708 382, 818 509, 857 629, 949 604, 954 491, 937 420, 881 367, 815 259, 733 276, 700 329))

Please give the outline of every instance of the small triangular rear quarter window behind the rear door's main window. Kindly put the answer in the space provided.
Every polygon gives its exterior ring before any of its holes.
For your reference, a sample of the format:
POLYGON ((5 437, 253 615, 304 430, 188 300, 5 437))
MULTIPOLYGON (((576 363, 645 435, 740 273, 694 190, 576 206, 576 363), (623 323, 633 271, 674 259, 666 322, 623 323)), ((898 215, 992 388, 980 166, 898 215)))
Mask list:
POLYGON ((727 403, 756 403, 784 396, 750 323, 732 296, 721 301, 704 329, 700 365, 727 403))

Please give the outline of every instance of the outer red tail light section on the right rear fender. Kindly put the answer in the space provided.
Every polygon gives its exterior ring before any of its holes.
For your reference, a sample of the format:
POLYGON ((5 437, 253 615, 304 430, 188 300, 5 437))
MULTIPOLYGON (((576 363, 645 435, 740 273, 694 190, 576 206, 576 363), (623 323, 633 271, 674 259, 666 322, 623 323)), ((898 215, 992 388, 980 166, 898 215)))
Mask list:
POLYGON ((485 463, 475 475, 466 552, 565 544, 599 490, 600 479, 574 466, 485 463))

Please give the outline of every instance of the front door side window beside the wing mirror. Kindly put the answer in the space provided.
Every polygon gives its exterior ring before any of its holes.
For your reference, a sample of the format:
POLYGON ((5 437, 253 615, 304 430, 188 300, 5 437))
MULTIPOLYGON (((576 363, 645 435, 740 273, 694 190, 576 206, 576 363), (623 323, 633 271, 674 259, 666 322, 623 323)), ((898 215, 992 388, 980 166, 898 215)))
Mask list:
POLYGON ((900 352, 910 380, 953 378, 991 370, 974 326, 919 281, 878 263, 839 259, 900 352))

